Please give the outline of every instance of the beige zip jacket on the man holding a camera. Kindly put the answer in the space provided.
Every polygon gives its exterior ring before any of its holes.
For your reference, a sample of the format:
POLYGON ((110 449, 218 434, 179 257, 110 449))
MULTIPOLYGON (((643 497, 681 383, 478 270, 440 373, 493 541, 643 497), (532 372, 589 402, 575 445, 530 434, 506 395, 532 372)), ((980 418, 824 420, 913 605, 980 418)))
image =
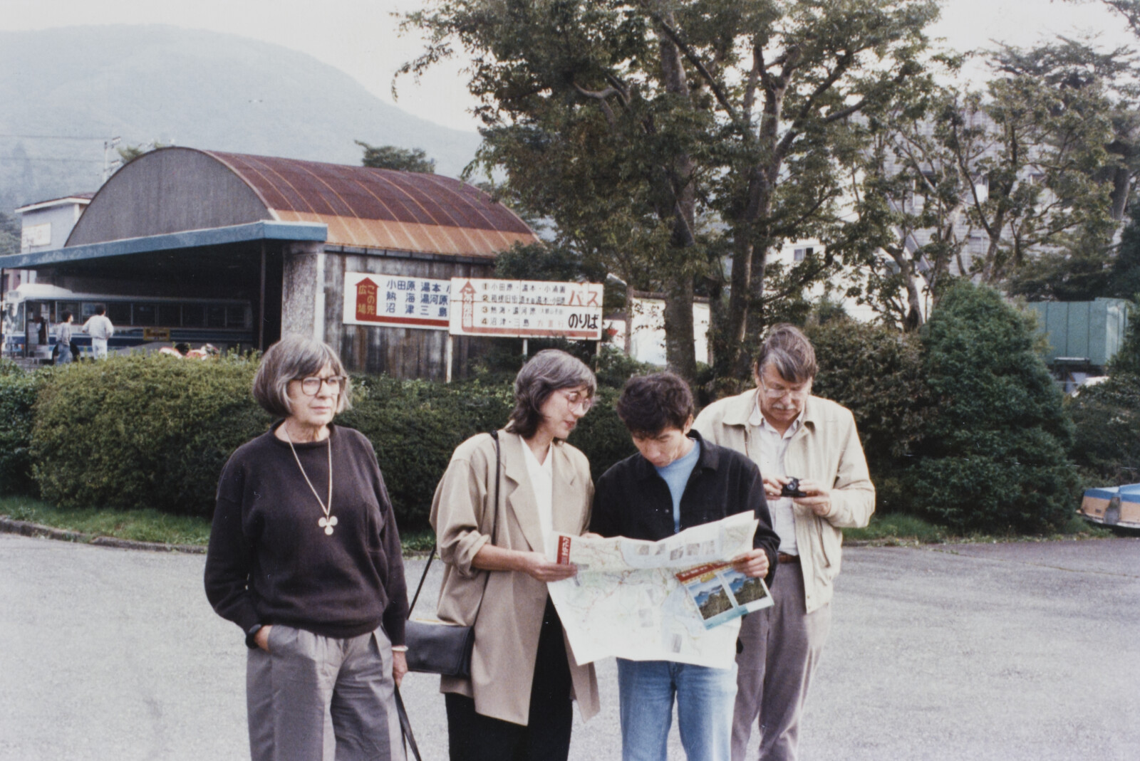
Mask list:
MULTIPOLYGON (((743 452, 755 461, 755 452, 749 451, 748 424, 755 404, 755 388, 722 399, 701 410, 693 427, 709 441, 743 452)), ((811 613, 831 602, 832 582, 841 563, 840 527, 868 524, 874 513, 874 485, 850 410, 809 396, 803 423, 788 444, 784 473, 832 484, 831 509, 826 515, 821 517, 809 508, 792 506, 806 613, 811 613)))

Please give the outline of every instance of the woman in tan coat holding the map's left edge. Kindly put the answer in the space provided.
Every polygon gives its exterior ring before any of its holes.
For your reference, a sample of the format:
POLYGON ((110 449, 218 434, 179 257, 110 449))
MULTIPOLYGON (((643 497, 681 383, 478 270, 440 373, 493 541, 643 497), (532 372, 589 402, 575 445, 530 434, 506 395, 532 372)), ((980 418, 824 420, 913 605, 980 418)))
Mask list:
POLYGON ((438 615, 475 628, 471 679, 440 684, 451 761, 564 760, 571 699, 586 719, 597 712, 593 665, 575 662, 546 590, 575 573, 547 559, 547 534, 589 525, 589 464, 565 437, 595 388, 583 362, 538 352, 515 378, 497 440, 463 442, 435 489, 431 523, 446 564, 438 615))

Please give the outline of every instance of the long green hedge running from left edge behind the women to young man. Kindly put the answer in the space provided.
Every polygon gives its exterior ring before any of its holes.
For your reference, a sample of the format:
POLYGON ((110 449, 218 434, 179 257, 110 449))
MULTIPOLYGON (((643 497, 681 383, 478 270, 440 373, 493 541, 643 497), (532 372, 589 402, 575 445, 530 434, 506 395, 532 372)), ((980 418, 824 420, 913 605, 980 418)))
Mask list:
MULTIPOLYGON (((0 489, 26 491, 34 478, 44 499, 63 507, 209 516, 226 459, 270 423, 250 395, 255 369, 237 358, 193 362, 156 354, 0 376, 0 408, 8 412, 0 426, 7 444, 0 489)), ((400 525, 424 527, 453 450, 506 422, 511 384, 373 376, 353 383, 353 407, 337 423, 373 442, 400 525)), ((634 451, 613 411, 616 396, 601 388, 570 437, 591 458, 595 477, 634 451)))

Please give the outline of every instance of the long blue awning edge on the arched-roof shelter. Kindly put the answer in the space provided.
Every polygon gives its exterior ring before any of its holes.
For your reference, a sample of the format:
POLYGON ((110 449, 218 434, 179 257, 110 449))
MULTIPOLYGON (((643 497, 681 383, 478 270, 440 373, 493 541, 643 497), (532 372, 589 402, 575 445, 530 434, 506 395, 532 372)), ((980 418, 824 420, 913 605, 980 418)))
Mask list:
POLYGON ((233 243, 252 240, 290 240, 324 243, 328 239, 328 226, 318 222, 250 222, 233 227, 217 227, 206 230, 187 230, 152 235, 145 238, 125 238, 92 243, 84 246, 64 246, 26 254, 0 256, 0 268, 35 269, 91 259, 108 259, 130 254, 146 254, 156 251, 174 251, 178 248, 201 248, 204 246, 221 246, 233 243))

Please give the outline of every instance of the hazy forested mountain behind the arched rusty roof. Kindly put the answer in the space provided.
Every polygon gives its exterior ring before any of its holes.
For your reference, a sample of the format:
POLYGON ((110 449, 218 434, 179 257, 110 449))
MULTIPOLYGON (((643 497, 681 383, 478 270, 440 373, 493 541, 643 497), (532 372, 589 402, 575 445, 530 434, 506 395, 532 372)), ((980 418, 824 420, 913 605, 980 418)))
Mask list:
POLYGON ((359 139, 423 148, 449 175, 479 145, 311 56, 246 38, 173 26, 0 32, 0 210, 96 190, 112 137, 347 164, 360 163, 359 139))

